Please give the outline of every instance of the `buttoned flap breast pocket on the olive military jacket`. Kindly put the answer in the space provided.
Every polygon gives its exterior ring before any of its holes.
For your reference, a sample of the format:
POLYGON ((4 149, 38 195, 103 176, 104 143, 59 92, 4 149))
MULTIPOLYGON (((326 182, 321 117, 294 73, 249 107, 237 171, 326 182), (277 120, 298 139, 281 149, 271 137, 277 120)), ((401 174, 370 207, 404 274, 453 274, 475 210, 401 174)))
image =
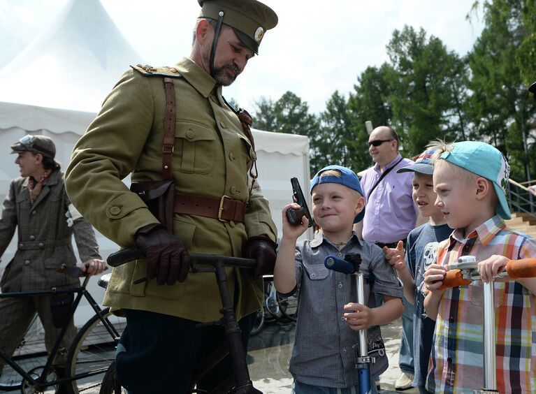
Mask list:
POLYGON ((208 174, 214 168, 215 131, 196 123, 175 124, 175 155, 179 170, 188 174, 208 174))

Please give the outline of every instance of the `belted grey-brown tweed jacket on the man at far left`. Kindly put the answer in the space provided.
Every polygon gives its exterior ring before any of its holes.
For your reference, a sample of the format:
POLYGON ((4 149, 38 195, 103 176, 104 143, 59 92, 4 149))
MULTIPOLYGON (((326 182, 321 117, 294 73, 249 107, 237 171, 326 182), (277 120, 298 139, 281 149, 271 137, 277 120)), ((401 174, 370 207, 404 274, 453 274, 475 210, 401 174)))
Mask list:
POLYGON ((75 235, 76 246, 82 261, 101 258, 91 224, 83 217, 68 226, 66 212, 69 201, 63 173, 57 170, 43 184, 34 206, 30 206, 28 178, 12 180, 8 195, 3 201, 0 219, 0 256, 18 232, 15 256, 4 270, 1 290, 49 290, 55 286, 79 284, 78 279, 56 272, 65 265, 76 265, 71 244, 75 235))

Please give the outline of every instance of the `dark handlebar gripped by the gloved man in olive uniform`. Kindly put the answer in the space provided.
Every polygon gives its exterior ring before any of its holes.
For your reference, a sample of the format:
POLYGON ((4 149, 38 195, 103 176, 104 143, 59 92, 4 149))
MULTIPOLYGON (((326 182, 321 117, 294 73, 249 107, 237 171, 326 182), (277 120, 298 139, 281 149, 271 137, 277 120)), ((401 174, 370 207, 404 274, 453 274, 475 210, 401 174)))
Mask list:
MULTIPOLYGON (((106 259, 106 262, 111 267, 118 267, 129 261, 138 260, 140 258, 145 258, 143 251, 136 247, 127 247, 119 251, 115 251, 113 254, 110 254, 106 259)), ((215 265, 217 261, 222 261, 224 265, 228 265, 236 268, 255 268, 256 261, 254 258, 242 258, 242 257, 231 257, 231 256, 222 256, 220 254, 190 254, 191 268, 194 267, 194 263, 206 264, 206 265, 215 265)), ((194 269, 192 269, 195 271, 194 269)))

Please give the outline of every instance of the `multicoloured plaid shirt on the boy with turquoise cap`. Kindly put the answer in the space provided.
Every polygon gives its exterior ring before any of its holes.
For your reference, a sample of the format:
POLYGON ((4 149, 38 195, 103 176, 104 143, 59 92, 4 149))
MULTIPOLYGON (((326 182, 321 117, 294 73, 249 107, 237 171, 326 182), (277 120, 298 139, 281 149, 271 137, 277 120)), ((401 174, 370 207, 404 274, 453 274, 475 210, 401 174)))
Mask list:
MULTIPOLYGON (((454 231, 438 247, 437 261, 459 256, 482 261, 493 254, 536 256, 536 240, 507 228, 495 215, 468 238, 454 231)), ((495 282, 495 348, 499 393, 536 392, 536 302, 516 281, 495 282)), ((483 286, 481 281, 447 289, 437 313, 427 388, 433 393, 472 393, 484 384, 483 286)))

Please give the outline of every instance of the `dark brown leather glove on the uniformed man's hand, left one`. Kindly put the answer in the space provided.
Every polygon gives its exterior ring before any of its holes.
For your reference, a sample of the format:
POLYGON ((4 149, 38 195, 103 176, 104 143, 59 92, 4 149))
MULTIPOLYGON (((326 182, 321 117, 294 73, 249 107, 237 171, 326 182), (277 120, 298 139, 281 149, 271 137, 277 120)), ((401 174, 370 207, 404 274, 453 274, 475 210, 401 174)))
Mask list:
POLYGON ((190 255, 175 235, 161 224, 140 228, 134 235, 136 247, 147 257, 147 279, 157 278, 157 284, 184 282, 190 270, 190 255))

